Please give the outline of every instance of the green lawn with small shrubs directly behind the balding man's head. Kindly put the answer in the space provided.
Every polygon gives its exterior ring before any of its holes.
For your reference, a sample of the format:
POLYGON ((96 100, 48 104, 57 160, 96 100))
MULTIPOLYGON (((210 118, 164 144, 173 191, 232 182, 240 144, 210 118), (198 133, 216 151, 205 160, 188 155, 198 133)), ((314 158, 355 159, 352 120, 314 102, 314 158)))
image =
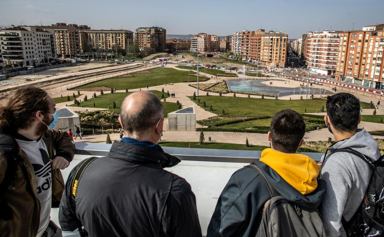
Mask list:
MULTIPOLYGON (((151 92, 156 94, 162 100, 161 91, 152 90, 151 92)), ((121 92, 121 93, 113 93, 113 94, 108 93, 104 95, 99 94, 96 98, 90 98, 88 99, 88 101, 81 101, 80 106, 83 105, 86 108, 104 108, 104 109, 108 109, 108 106, 109 106, 110 111, 113 111, 119 114, 122 101, 131 93, 133 92, 128 92, 128 93, 121 92), (116 103, 116 108, 113 108, 113 101, 115 101, 116 103), (95 103, 95 107, 93 107, 93 102, 95 103)), ((167 96, 167 93, 164 93, 164 98, 168 98, 168 97, 169 96, 167 96)), ((176 111, 178 109, 178 107, 176 106, 176 103, 170 103, 170 102, 161 102, 161 103, 164 106, 165 118, 167 118, 168 113, 176 111)), ((75 104, 71 104, 70 106, 78 107, 75 104)))

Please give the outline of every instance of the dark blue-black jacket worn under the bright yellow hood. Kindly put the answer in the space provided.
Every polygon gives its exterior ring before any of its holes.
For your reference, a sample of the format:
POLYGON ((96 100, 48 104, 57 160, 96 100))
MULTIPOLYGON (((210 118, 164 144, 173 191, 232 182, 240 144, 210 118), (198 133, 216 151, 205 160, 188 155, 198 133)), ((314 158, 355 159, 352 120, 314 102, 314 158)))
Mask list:
MULTIPOLYGON (((318 180, 318 187, 303 195, 282 179, 263 162, 253 162, 264 172, 271 185, 281 196, 303 207, 317 208, 325 192, 325 182, 318 180)), ((262 209, 271 196, 262 177, 252 167, 243 167, 229 179, 218 198, 208 225, 207 237, 254 237, 262 219, 262 209)))

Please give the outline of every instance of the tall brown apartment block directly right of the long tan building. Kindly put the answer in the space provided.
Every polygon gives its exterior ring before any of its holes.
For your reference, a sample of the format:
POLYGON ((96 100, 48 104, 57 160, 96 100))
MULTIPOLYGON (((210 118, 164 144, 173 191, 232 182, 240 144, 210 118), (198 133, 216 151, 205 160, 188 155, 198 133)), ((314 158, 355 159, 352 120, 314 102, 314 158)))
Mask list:
POLYGON ((166 29, 162 27, 140 27, 135 31, 135 43, 140 50, 153 48, 156 52, 162 52, 166 47, 166 29))

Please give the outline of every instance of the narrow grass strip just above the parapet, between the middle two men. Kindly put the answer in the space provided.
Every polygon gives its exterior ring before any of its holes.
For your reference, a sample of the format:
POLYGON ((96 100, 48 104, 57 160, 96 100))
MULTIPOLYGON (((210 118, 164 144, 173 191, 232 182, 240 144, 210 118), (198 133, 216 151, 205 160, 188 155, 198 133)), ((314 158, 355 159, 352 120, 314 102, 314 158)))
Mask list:
POLYGON ((170 147, 180 147, 188 148, 191 144, 192 148, 205 148, 205 149, 227 149, 227 150, 248 150, 248 151, 262 151, 267 146, 252 146, 248 148, 244 144, 233 144, 233 143, 203 143, 199 144, 198 142, 159 142, 160 146, 170 146, 170 147))

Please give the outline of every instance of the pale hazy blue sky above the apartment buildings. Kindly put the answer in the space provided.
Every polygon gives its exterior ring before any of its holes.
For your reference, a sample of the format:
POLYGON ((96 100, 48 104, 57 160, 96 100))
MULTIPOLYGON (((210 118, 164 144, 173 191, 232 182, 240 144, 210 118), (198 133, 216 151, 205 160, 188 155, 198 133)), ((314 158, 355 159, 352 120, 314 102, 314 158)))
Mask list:
POLYGON ((0 27, 66 22, 135 31, 158 26, 177 35, 223 36, 263 28, 297 39, 311 30, 361 30, 384 23, 384 0, 1 0, 0 8, 0 27))

